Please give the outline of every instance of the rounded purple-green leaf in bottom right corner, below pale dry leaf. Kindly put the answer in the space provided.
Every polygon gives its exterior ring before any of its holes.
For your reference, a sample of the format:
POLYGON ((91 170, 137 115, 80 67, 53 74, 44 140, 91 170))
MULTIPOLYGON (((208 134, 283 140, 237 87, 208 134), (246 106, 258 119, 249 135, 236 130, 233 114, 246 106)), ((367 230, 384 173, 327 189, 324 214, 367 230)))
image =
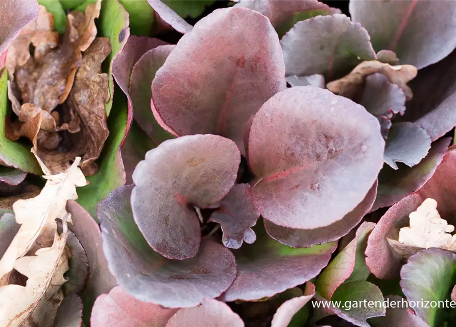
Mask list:
MULTIPOLYGON (((445 301, 455 276, 456 254, 430 248, 415 253, 402 266, 400 285, 409 301, 445 301)), ((439 308, 422 307, 414 308, 417 316, 430 327, 439 325, 439 308)))

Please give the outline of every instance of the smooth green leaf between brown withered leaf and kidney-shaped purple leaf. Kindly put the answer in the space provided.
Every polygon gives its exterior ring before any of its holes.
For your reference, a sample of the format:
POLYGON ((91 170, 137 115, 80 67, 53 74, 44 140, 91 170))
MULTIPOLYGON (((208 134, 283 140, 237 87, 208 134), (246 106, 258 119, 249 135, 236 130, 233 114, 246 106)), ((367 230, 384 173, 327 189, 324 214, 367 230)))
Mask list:
POLYGON ((127 130, 127 100, 121 89, 116 87, 116 100, 108 119, 109 137, 106 140, 97 174, 87 177, 90 182, 78 190, 78 203, 97 217, 97 204, 109 193, 125 184, 125 170, 120 146, 127 130))

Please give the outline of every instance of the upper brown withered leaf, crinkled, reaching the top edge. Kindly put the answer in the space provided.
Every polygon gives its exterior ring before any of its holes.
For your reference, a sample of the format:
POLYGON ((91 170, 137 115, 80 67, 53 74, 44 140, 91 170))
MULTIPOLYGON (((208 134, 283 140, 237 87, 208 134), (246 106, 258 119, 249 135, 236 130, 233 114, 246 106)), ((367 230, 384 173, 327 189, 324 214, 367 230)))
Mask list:
POLYGON ((100 3, 98 0, 88 5, 85 14, 69 13, 62 43, 45 56, 37 56, 35 49, 33 57, 16 70, 15 80, 23 103, 51 112, 66 100, 81 64, 81 51, 86 50, 97 35, 93 20, 100 14, 100 3))

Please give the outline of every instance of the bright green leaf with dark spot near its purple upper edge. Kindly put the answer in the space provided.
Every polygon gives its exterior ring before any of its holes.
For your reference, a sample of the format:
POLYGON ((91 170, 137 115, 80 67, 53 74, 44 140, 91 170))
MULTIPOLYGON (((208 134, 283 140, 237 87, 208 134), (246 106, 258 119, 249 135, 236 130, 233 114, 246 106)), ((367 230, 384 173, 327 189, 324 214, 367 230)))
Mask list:
MULTIPOLYGON (((86 0, 78 6, 76 10, 84 11, 85 7, 96 2, 97 0, 86 0)), ((111 94, 111 99, 106 104, 106 114, 109 115, 112 108, 114 92, 114 81, 111 74, 112 60, 117 56, 119 51, 122 50, 130 36, 128 12, 118 0, 103 0, 101 3, 100 18, 98 21, 95 20, 95 22, 97 22, 98 36, 107 37, 111 41, 112 51, 102 65, 103 73, 107 73, 109 76, 109 92, 111 94)))

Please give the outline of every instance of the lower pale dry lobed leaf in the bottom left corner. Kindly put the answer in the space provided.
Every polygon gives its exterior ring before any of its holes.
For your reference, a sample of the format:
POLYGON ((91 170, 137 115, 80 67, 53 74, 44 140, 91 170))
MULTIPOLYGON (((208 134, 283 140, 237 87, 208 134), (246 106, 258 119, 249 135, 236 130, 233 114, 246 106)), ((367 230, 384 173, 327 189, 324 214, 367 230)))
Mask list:
POLYGON ((6 285, 0 288, 1 326, 51 327, 60 302, 63 274, 68 270, 65 244, 68 233, 55 231, 52 247, 41 248, 35 255, 23 256, 14 268, 28 277, 26 286, 6 285))

